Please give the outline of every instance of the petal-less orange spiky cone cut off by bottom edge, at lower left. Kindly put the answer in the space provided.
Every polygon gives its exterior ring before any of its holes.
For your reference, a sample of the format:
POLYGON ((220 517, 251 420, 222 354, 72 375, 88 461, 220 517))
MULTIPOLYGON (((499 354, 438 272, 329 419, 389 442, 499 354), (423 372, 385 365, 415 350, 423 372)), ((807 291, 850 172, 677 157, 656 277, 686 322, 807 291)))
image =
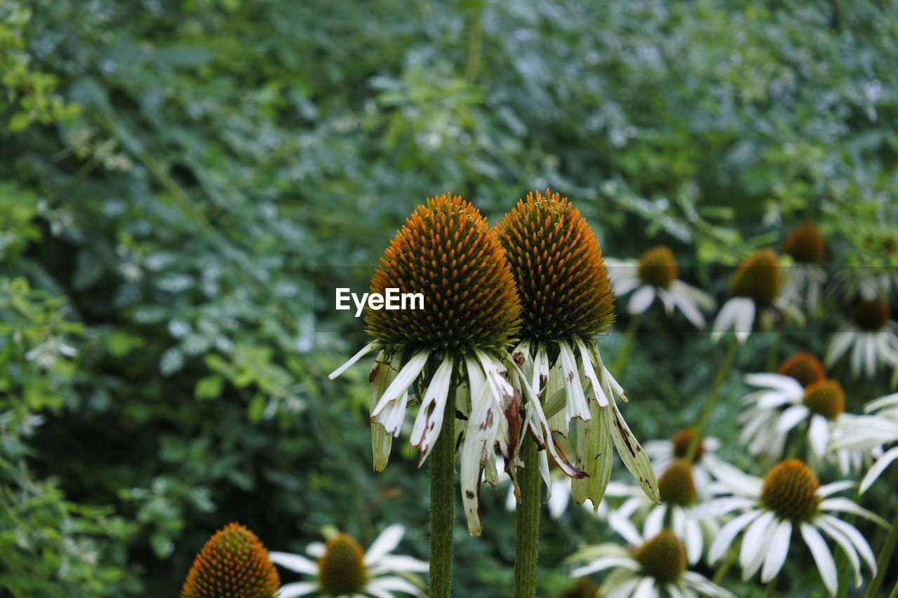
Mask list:
POLYGON ((229 523, 213 535, 193 561, 181 598, 274 598, 277 569, 256 534, 229 523))

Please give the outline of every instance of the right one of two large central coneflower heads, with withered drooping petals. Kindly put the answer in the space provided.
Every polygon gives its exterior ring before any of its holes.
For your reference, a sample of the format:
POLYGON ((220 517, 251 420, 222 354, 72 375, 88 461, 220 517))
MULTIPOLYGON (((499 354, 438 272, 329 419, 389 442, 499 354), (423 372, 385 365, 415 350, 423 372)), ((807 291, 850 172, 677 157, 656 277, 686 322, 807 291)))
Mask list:
MULTIPOLYGON (((572 492, 598 508, 612 467, 612 441, 646 493, 657 500, 655 473, 621 416, 621 385, 603 365, 594 336, 614 321, 614 295, 595 234, 568 198, 546 189, 530 193, 497 224, 521 298, 521 343, 511 382, 525 399, 526 421, 569 477, 572 492), (584 383, 585 381, 585 383, 584 383), (578 427, 577 467, 560 453, 552 432, 578 427)), ((549 478, 546 452, 540 453, 549 478)), ((525 464, 531 466, 531 464, 525 464)))

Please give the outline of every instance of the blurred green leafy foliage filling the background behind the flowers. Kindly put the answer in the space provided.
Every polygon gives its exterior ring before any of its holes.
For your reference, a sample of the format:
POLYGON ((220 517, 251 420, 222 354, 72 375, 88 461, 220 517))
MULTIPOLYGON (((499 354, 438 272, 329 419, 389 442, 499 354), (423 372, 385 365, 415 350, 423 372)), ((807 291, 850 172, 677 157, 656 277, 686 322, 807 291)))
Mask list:
MULTIPOLYGON (((172 595, 231 520, 293 551, 401 522, 426 557, 427 476, 404 449, 374 475, 365 368, 325 376, 364 342, 334 281, 364 288, 445 190, 495 222, 551 185, 607 255, 670 243, 718 296, 719 266, 806 218, 839 265, 898 266, 895 8, 0 0, 0 588, 172 595)), ((782 352, 819 354, 843 319, 782 352)), ((713 375, 681 324, 638 336, 642 439, 688 424, 713 375)), ((884 380, 851 383, 850 409, 884 380)), ((456 532, 471 598, 505 595, 514 555, 505 490, 483 496, 484 537, 456 532)), ((556 595, 562 558, 609 536, 579 509, 545 527, 556 595)), ((781 587, 803 595, 797 562, 781 587)))

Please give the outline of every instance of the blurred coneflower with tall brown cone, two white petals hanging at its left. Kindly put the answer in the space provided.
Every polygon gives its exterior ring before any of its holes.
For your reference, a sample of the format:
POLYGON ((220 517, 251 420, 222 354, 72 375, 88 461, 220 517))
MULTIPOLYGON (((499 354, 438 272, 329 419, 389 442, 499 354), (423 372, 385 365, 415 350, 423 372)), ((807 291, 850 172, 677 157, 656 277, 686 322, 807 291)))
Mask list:
POLYGON ((770 319, 777 312, 790 320, 804 323, 804 314, 790 301, 790 297, 782 295, 781 286, 776 251, 755 251, 730 278, 733 297, 720 308, 711 329, 711 340, 716 343, 728 330, 733 330, 736 340, 744 343, 751 336, 756 319, 770 319))

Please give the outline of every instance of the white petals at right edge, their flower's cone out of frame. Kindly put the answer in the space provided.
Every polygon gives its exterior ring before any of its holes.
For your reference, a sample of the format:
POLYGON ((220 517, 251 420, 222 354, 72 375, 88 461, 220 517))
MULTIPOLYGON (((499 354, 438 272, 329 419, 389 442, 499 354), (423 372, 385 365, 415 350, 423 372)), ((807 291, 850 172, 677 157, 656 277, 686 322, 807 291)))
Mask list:
POLYGON ((858 491, 861 494, 898 460, 898 393, 871 400, 864 407, 864 413, 841 422, 835 430, 838 436, 832 443, 833 450, 864 451, 876 457, 876 462, 860 480, 858 491), (882 447, 890 444, 895 445, 883 453, 882 447))

